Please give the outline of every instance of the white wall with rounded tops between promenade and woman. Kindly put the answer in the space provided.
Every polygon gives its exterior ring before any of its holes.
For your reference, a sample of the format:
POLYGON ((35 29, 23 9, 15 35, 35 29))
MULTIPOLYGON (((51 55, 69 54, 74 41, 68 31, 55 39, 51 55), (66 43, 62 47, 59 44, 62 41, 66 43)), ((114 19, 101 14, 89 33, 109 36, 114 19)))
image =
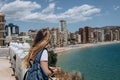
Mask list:
POLYGON ((18 80, 23 80, 24 74, 26 72, 26 68, 22 67, 23 58, 28 54, 28 50, 30 45, 28 43, 17 43, 11 42, 10 49, 10 60, 11 67, 14 70, 15 77, 18 80))

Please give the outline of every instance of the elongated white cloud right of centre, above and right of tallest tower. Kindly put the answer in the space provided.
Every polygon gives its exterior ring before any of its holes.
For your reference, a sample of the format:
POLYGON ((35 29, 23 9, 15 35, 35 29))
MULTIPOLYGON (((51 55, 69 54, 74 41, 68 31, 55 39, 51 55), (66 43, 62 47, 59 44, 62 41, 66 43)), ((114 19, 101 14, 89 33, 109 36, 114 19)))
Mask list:
POLYGON ((76 6, 62 13, 59 18, 67 19, 70 22, 85 21, 91 19, 91 15, 99 13, 100 9, 90 5, 76 6))

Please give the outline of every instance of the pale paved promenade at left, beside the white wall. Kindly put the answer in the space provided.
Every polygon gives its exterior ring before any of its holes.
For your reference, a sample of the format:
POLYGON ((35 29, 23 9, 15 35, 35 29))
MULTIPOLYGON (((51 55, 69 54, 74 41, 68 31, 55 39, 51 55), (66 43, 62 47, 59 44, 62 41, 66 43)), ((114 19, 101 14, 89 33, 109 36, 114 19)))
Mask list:
POLYGON ((0 48, 0 80, 16 80, 11 67, 8 48, 0 48))

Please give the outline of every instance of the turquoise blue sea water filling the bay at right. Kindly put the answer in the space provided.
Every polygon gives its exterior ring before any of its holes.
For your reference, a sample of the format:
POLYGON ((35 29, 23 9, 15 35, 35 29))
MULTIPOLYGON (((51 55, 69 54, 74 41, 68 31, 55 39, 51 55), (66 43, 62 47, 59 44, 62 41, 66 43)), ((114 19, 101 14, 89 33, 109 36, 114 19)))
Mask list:
POLYGON ((120 80, 120 43, 61 54, 57 66, 68 72, 81 72, 85 80, 120 80))

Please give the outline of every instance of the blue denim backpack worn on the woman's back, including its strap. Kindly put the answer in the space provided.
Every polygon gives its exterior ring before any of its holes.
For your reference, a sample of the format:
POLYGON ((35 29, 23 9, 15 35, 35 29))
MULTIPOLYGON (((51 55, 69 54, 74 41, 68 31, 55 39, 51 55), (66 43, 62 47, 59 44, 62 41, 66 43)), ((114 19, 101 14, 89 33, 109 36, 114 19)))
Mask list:
MULTIPOLYGON (((45 49, 45 48, 44 48, 45 49)), ((23 80, 48 80, 48 75, 44 72, 42 67, 40 66, 40 58, 43 50, 39 51, 36 55, 33 64, 29 61, 30 68, 26 71, 23 80)))

